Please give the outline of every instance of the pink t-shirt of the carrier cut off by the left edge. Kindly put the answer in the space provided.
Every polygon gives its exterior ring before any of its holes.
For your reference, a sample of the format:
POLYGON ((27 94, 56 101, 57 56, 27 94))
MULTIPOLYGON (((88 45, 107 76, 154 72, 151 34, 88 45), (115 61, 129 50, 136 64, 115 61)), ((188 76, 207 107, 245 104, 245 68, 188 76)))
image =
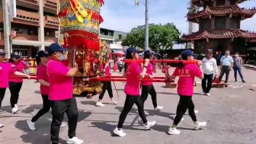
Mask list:
POLYGON ((15 69, 9 62, 0 62, 0 88, 9 87, 9 75, 13 74, 15 69))

